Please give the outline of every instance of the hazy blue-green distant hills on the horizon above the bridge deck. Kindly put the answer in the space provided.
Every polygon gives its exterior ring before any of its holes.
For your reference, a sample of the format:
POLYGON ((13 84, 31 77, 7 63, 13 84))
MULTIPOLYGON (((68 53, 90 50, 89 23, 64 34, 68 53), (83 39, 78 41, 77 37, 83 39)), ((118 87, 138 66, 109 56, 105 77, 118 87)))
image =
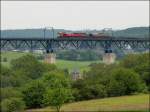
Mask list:
MULTIPOLYGON (((54 37, 57 37, 58 32, 73 32, 71 30, 64 30, 64 29, 55 29, 54 30, 54 37)), ((81 32, 81 31, 77 31, 81 32)), ((100 30, 88 30, 82 32, 89 32, 89 33, 97 33, 102 32, 100 30)), ((52 38, 53 34, 52 31, 46 30, 45 33, 46 38, 52 38)), ((149 27, 132 27, 127 28, 124 30, 115 30, 113 31, 113 35, 116 37, 149 37, 149 27)), ((5 38, 44 38, 44 30, 43 29, 21 29, 21 30, 1 30, 1 37, 5 38)))

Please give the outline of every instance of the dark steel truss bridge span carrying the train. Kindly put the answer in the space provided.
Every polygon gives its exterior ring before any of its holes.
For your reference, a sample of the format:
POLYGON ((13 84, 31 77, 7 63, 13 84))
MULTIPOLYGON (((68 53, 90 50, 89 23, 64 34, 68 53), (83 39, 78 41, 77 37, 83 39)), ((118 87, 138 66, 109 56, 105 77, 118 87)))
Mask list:
POLYGON ((1 49, 45 49, 47 53, 54 49, 96 49, 104 48, 106 53, 112 52, 111 48, 120 49, 150 49, 149 38, 1 38, 1 49))

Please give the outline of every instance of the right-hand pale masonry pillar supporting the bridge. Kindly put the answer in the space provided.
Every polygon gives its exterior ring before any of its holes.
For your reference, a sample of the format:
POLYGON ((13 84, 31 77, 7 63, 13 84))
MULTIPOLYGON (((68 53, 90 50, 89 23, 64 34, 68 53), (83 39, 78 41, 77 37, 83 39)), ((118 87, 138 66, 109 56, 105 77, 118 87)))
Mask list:
POLYGON ((105 53, 103 56, 103 63, 112 64, 115 62, 116 55, 115 53, 105 53))

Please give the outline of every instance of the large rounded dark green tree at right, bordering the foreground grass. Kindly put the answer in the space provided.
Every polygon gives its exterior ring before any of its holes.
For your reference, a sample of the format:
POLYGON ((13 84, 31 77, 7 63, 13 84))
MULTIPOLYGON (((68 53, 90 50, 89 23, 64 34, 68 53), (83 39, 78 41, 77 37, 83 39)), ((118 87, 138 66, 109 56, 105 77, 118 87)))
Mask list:
POLYGON ((109 94, 111 95, 128 95, 138 92, 142 84, 137 73, 125 68, 118 68, 112 71, 112 80, 109 83, 109 94), (119 88, 120 90, 118 90, 119 88), (117 94, 117 92, 118 94, 117 94), (114 93, 116 92, 116 94, 114 93))

